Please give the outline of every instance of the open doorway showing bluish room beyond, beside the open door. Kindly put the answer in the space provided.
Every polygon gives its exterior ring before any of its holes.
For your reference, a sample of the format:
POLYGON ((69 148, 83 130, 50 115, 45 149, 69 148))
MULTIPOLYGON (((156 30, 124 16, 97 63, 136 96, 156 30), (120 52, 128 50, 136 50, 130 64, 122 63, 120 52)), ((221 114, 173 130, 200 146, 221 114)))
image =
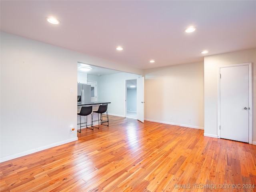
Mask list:
POLYGON ((137 79, 126 80, 126 117, 137 118, 137 79))

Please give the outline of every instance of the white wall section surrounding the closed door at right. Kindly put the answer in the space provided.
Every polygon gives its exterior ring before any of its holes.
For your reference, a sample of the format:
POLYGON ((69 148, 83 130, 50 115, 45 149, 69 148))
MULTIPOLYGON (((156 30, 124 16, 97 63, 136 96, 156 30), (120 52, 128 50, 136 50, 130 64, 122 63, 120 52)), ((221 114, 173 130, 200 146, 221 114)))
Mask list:
POLYGON ((218 67, 252 62, 252 141, 256 144, 256 49, 242 50, 206 56, 204 58, 204 135, 217 137, 218 134, 218 67))

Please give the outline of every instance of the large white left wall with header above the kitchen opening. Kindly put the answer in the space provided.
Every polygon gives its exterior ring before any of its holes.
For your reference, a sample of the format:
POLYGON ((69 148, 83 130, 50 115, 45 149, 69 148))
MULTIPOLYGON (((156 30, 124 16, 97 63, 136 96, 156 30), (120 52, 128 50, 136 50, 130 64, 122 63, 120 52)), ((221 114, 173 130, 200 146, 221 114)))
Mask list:
POLYGON ((1 32, 0 161, 77 140, 77 62, 142 71, 1 32), (73 88, 74 93, 70 93, 73 88))

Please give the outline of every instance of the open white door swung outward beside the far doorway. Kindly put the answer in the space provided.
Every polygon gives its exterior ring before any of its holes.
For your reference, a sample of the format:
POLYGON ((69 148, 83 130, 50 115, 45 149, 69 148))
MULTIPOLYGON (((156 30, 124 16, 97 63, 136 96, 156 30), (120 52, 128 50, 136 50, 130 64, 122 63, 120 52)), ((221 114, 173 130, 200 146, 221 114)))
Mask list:
POLYGON ((144 77, 137 79, 137 119, 144 123, 144 77))

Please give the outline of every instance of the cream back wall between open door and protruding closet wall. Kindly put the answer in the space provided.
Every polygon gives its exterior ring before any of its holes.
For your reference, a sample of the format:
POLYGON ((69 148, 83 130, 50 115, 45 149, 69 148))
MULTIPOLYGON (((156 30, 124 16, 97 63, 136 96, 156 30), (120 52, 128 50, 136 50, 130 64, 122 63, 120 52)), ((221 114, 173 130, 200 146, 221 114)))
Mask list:
POLYGON ((203 62, 154 68, 144 75, 145 120, 204 128, 203 62))

